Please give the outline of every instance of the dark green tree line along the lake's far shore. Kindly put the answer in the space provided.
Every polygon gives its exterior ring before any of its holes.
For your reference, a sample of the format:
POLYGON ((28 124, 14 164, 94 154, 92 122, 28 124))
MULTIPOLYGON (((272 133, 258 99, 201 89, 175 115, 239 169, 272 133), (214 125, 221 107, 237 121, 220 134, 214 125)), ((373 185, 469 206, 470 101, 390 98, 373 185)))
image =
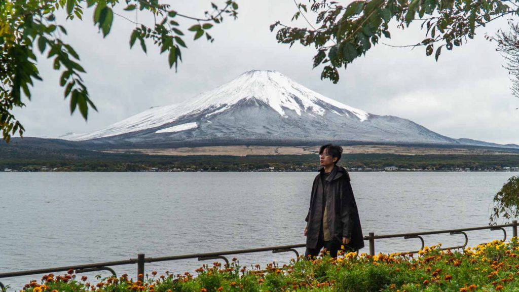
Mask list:
MULTIPOLYGON (((343 154, 349 171, 516 171, 519 155, 343 154)), ((316 171, 317 155, 169 156, 0 152, 0 171, 316 171)))

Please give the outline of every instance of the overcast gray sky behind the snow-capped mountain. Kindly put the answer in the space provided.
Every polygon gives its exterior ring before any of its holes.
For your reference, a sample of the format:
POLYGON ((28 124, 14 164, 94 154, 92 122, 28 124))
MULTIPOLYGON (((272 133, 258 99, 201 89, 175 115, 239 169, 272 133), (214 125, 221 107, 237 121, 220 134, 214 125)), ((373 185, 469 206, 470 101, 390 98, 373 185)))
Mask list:
MULTIPOLYGON (((210 9, 210 1, 167 3, 183 14, 198 17, 210 9)), ((504 59, 495 51, 496 44, 483 38, 485 33, 506 29, 506 19, 488 25, 460 48, 443 50, 438 62, 426 57, 424 48, 379 44, 348 70, 341 70, 339 83, 333 84, 321 81, 322 67, 312 70, 314 49, 298 44, 289 49, 278 44, 275 33, 269 31, 269 25, 277 20, 291 23, 297 9, 292 0, 238 0, 238 4, 236 21, 226 18, 210 30, 214 43, 204 38, 187 42, 178 73, 169 69, 167 54, 159 55, 151 43, 147 43, 147 55, 138 42, 129 49, 134 24, 125 19, 115 16, 112 32, 103 39, 93 26, 92 9, 85 10, 83 21, 58 18, 69 31, 66 42, 81 57, 87 71, 84 79, 99 112, 91 111, 88 122, 79 112, 71 116, 69 101, 63 100, 64 89, 59 86, 60 73, 40 56, 38 69, 44 82, 35 83, 33 100, 15 111, 25 126, 25 136, 57 137, 98 130, 149 107, 193 98, 245 71, 262 69, 279 71, 351 107, 408 118, 445 136, 519 144, 519 100, 511 94, 508 71, 502 68, 504 59)), ((126 16, 135 18, 134 12, 126 16)), ((144 11, 139 12, 138 20, 149 23, 144 11)), ((187 28, 194 23, 181 24, 185 39, 192 39, 187 28)), ((308 25, 302 18, 292 24, 308 25)), ((392 39, 382 41, 409 45, 421 41, 424 32, 393 29, 391 35, 392 39)))

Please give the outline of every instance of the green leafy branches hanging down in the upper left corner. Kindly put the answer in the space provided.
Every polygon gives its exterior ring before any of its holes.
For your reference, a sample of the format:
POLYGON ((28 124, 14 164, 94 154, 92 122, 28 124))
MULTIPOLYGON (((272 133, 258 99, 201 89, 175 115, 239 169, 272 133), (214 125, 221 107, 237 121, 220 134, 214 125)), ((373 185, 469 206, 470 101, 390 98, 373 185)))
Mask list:
MULTIPOLYGON (((119 0, 2 0, 0 1, 0 129, 2 137, 9 142, 16 132, 23 135, 24 127, 12 114, 14 108, 24 107, 22 96, 31 100, 34 80, 42 81, 37 69, 35 51, 47 54, 53 59, 53 69, 62 72, 60 86, 65 88, 64 97, 70 100, 70 112, 78 108, 81 116, 87 120, 89 109, 97 111, 90 99, 86 84, 81 74, 86 71, 79 64, 79 55, 70 44, 62 41, 67 32, 56 21, 56 12, 64 10, 66 19, 82 20, 85 8, 92 7, 94 25, 106 37, 114 22, 114 8, 122 5, 119 0)), ((206 35, 208 41, 213 38, 207 33, 212 23, 221 23, 223 15, 236 19, 238 5, 233 0, 225 1, 219 8, 212 4, 212 12, 206 11, 206 18, 193 18, 171 10, 170 5, 160 4, 157 0, 125 0, 125 11, 146 10, 154 16, 153 28, 137 26, 130 36, 130 48, 139 39, 146 52, 146 39, 160 47, 161 54, 169 52, 168 62, 172 68, 182 61, 180 47, 186 48, 182 39, 183 32, 177 28, 176 18, 182 17, 196 21, 198 29, 195 39, 206 35)))

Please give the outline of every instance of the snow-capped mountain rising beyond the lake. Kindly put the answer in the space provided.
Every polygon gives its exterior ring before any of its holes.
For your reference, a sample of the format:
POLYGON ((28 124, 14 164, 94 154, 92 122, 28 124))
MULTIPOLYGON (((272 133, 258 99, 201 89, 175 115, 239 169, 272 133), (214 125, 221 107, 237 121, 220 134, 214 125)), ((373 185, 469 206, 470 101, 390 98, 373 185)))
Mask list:
POLYGON ((185 102, 151 108, 104 129, 59 139, 115 147, 324 141, 505 147, 453 139, 405 118, 367 113, 279 72, 260 70, 245 72, 185 102))

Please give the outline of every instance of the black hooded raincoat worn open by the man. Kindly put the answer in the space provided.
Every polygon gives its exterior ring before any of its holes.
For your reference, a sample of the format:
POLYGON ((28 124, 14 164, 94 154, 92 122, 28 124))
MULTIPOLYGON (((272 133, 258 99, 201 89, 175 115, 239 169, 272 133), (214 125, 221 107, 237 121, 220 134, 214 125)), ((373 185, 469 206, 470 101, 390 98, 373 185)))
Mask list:
POLYGON ((343 237, 350 238, 347 245, 353 250, 364 247, 364 239, 360 224, 357 203, 351 189, 350 176, 343 167, 335 166, 330 175, 324 180, 327 184, 323 188, 321 176, 324 168, 313 180, 312 193, 310 196, 310 208, 305 221, 308 222, 306 247, 317 248, 319 232, 321 229, 324 206, 326 204, 326 220, 332 240, 343 242, 343 237), (323 190, 326 193, 323 195, 323 190))

